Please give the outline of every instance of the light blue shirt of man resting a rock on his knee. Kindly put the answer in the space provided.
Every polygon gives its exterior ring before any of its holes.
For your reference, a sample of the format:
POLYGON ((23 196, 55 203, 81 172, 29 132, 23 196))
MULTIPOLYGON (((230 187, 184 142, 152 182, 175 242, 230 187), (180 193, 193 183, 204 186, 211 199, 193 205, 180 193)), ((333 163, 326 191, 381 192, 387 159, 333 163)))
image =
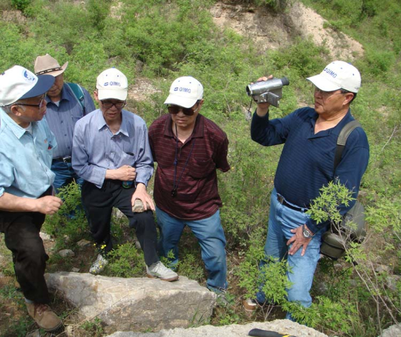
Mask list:
POLYGON ((153 174, 146 123, 132 112, 122 110, 121 113, 121 126, 114 135, 100 109, 75 124, 72 166, 78 176, 99 188, 106 170, 123 165, 135 167, 135 181, 146 186, 153 174))

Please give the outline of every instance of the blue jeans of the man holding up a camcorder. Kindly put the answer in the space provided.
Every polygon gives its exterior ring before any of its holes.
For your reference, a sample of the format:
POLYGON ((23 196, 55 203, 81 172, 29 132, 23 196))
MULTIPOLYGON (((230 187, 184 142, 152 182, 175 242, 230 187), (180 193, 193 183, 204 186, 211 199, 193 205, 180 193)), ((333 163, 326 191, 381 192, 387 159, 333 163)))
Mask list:
MULTIPOLYGON (((295 206, 295 205, 294 205, 295 206)), ((325 228, 319 230, 309 242, 304 256, 301 256, 302 248, 294 255, 288 255, 287 240, 294 234, 291 229, 306 223, 308 215, 303 211, 296 211, 282 205, 277 200, 277 191, 273 189, 270 197, 270 214, 267 238, 265 243, 265 255, 282 260, 287 259, 291 272, 287 272, 288 280, 292 286, 287 289, 287 298, 290 302, 299 302, 305 307, 312 304, 309 290, 312 286, 313 274, 315 273, 317 261, 320 258, 321 237, 325 228)), ((262 262, 261 265, 267 262, 262 262)), ((259 291, 256 299, 260 303, 266 301, 265 294, 259 291)), ((287 319, 292 319, 291 313, 287 312, 287 319)))

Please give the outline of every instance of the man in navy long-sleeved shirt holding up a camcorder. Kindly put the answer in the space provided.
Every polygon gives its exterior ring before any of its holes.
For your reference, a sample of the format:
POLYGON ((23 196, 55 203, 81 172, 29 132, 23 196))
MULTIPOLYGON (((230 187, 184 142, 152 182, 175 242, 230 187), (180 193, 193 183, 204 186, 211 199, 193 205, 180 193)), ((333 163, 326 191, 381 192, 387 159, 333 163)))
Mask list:
MULTIPOLYGON (((320 189, 333 180, 344 184, 356 199, 369 159, 366 134, 357 127, 334 169, 337 138, 354 120, 349 105, 360 88, 359 71, 346 62, 334 61, 307 80, 314 85, 313 108, 300 108, 284 118, 269 120, 269 104, 260 103, 251 124, 254 141, 264 146, 284 144, 270 198, 265 254, 267 260, 287 259, 287 277, 292 283, 287 289, 288 300, 305 307, 312 303, 309 290, 320 257, 321 237, 328 228, 328 223, 318 225, 305 212, 320 189)), ((345 214, 354 203, 341 205, 339 212, 345 214)), ((271 298, 259 291, 256 300, 263 304, 271 298)), ((244 306, 251 310, 257 304, 248 300, 244 306)), ((291 313, 287 318, 293 319, 291 313)))

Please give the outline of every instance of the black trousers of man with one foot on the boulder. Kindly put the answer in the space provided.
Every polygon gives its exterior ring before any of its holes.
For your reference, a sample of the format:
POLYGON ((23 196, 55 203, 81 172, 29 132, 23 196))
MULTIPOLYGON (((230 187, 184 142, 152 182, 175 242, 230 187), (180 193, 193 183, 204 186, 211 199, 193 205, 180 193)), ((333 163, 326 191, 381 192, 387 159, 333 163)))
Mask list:
POLYGON ((145 263, 150 265, 158 261, 156 252, 157 232, 153 213, 133 213, 131 197, 135 187, 123 188, 120 180, 106 179, 102 188, 84 181, 82 185, 82 203, 89 221, 92 237, 98 246, 104 245, 104 253, 112 248, 110 221, 113 207, 126 215, 129 226, 135 228, 136 237, 142 247, 145 263))

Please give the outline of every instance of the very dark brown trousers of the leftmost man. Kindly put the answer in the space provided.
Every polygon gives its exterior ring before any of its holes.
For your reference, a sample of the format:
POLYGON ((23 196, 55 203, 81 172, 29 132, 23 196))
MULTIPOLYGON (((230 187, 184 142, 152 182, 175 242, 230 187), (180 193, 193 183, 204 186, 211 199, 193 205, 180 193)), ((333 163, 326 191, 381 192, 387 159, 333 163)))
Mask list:
MULTIPOLYGON (((43 195, 50 193, 51 188, 43 195)), ((44 277, 49 256, 39 235, 44 221, 45 214, 39 212, 0 211, 0 231, 13 252, 17 281, 24 296, 35 303, 50 302, 44 277)))

